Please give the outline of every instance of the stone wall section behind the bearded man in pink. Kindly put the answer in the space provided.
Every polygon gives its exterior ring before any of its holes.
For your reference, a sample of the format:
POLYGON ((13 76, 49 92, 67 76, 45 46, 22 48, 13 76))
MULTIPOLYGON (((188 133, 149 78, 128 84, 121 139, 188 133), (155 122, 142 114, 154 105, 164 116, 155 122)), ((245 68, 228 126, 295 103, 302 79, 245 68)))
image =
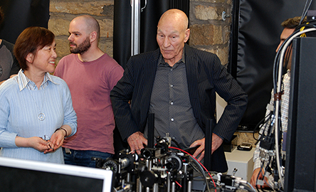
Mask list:
POLYGON ((70 54, 68 43, 69 23, 76 16, 90 15, 100 23, 99 47, 108 55, 113 55, 113 15, 114 0, 51 0, 51 17, 48 29, 56 35, 57 63, 70 54))

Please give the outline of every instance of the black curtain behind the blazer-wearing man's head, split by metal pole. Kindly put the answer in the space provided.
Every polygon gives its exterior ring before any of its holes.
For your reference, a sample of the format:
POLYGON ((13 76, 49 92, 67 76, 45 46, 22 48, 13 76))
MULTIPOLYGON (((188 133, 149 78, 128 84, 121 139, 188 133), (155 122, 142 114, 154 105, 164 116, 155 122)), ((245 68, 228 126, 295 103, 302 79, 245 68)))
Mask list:
MULTIPOLYGON (((160 16, 168 9, 181 9, 189 17, 189 0, 141 0, 139 52, 158 48, 156 41, 157 24, 160 16)), ((131 14, 130 1, 114 1, 113 58, 125 68, 131 55, 131 14)))

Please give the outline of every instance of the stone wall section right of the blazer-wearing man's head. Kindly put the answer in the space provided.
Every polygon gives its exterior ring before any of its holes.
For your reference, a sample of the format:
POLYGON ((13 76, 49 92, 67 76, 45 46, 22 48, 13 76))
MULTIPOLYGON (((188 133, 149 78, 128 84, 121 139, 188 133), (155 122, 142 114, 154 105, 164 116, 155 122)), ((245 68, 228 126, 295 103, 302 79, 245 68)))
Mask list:
POLYGON ((228 64, 231 33, 231 0, 191 0, 189 45, 218 55, 222 65, 228 64), (225 21, 222 13, 230 17, 225 21))

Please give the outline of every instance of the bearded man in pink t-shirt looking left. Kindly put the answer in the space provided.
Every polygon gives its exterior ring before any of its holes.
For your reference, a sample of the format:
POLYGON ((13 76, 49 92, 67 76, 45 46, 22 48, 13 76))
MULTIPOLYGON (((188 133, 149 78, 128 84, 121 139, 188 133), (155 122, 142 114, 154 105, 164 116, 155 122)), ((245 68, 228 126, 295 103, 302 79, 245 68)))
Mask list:
POLYGON ((78 117, 78 132, 65 139, 65 164, 95 167, 91 158, 114 154, 115 120, 110 90, 122 78, 123 69, 98 48, 100 26, 92 16, 78 16, 69 25, 72 54, 63 57, 55 70, 67 82, 78 117))

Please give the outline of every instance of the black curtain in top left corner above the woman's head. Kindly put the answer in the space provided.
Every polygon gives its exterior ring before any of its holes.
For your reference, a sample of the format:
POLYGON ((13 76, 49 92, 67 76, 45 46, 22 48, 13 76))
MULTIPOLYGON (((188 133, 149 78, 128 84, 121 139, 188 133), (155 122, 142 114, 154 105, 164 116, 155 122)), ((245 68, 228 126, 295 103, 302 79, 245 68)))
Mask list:
POLYGON ((15 43, 19 34, 29 26, 48 28, 49 0, 1 0, 0 6, 4 11, 1 39, 15 43))

